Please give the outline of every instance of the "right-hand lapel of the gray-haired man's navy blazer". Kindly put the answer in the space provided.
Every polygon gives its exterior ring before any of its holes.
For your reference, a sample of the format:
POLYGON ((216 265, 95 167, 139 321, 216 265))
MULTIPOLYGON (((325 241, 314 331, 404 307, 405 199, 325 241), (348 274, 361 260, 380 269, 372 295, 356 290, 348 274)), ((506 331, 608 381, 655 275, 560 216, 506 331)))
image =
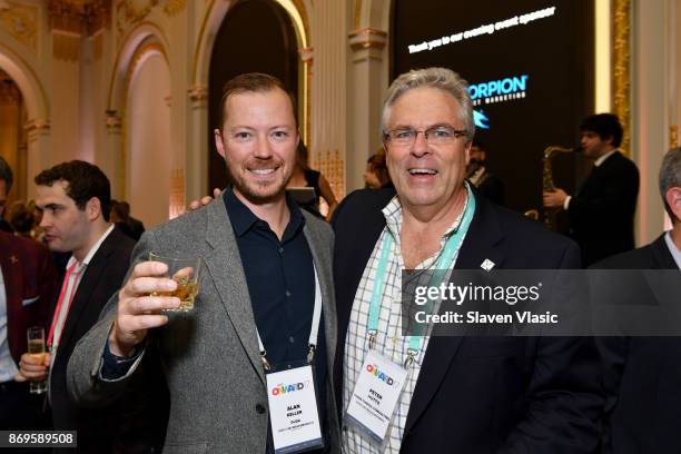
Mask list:
MULTIPOLYGON (((495 248, 503 238, 499 219, 484 198, 475 195, 475 214, 458 251, 454 269, 480 269, 485 259, 490 259, 495 264, 494 267, 499 268, 504 261, 503 254, 495 248)), ((462 337, 431 337, 407 414, 405 432, 414 426, 435 396, 458 352, 461 340, 462 337)))

